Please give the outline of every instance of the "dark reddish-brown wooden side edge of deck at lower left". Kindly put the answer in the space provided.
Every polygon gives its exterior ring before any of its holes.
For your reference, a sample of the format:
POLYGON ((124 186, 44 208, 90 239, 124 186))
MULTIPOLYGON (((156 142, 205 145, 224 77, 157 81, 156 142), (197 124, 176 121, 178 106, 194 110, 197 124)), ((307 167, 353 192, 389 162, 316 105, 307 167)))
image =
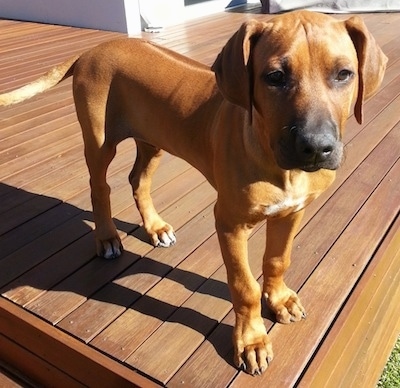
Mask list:
POLYGON ((156 387, 134 370, 0 298, 0 359, 40 384, 69 379, 76 385, 156 387), (29 362, 27 362, 29 361, 29 362))

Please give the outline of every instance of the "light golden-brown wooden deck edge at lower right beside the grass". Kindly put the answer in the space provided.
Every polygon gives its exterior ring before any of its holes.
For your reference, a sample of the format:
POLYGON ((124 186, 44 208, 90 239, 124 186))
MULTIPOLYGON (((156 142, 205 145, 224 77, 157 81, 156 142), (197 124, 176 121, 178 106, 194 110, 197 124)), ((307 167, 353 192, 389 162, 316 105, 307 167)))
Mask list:
POLYGON ((376 385, 400 330, 399 270, 397 217, 298 387, 376 385))

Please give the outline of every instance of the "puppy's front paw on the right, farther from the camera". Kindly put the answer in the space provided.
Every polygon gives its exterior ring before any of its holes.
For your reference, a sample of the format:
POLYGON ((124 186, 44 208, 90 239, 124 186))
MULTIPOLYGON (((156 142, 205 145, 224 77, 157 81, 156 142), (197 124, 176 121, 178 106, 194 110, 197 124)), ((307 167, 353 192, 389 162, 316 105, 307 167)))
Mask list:
POLYGON ((306 311, 297 294, 283 284, 279 290, 264 292, 267 306, 280 323, 298 322, 306 318, 306 311))

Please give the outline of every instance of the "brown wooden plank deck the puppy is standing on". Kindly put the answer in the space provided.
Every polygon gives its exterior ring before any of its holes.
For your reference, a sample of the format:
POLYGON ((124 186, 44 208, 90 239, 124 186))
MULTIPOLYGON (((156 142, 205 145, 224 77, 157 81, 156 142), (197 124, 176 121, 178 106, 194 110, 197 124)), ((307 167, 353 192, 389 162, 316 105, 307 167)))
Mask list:
MULTIPOLYGON (((244 20, 269 17, 252 6, 143 36, 211 64, 244 20)), ((364 123, 350 117, 345 164, 296 237, 287 282, 307 320, 284 326, 264 312, 275 360, 262 377, 232 365, 234 315, 205 179, 165 155, 153 195, 179 241, 153 249, 127 180, 134 142, 122 143, 109 182, 126 251, 96 258, 70 80, 0 109, 0 371, 22 379, 0 372, 0 385, 375 386, 400 331, 400 14, 364 18, 389 67, 364 123)), ((7 20, 0 30, 1 92, 120 36, 7 20)), ((250 240, 257 277, 263 247, 261 227, 250 240)))

